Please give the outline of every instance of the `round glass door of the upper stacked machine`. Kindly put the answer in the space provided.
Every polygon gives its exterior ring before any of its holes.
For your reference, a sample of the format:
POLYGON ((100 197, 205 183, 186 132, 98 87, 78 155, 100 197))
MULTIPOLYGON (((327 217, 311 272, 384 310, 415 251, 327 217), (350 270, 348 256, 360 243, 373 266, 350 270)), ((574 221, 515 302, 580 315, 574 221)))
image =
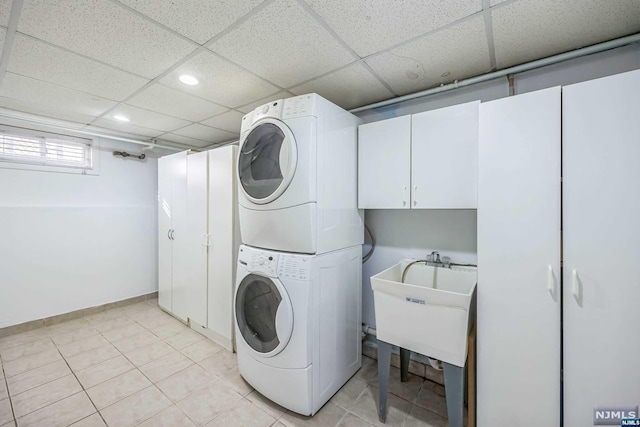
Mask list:
POLYGON ((238 179, 245 196, 265 204, 285 192, 296 170, 293 133, 279 120, 264 119, 240 141, 238 179))

